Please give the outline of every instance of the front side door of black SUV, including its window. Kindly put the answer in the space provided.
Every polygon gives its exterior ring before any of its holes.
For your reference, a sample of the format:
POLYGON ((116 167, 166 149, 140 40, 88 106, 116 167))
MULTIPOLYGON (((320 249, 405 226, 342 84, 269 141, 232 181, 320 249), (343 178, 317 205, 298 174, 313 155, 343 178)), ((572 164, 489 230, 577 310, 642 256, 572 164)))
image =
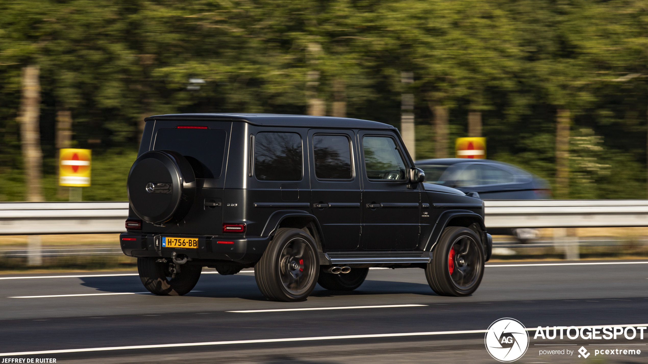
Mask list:
POLYGON ((419 241, 421 184, 408 189, 410 166, 395 134, 360 131, 362 248, 411 250, 419 241))

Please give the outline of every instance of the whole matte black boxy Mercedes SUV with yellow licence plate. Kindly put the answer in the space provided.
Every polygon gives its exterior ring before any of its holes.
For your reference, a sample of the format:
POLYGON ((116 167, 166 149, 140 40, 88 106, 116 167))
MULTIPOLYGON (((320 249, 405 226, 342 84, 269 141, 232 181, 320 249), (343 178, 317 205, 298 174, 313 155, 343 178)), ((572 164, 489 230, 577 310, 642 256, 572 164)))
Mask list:
POLYGON ((469 295, 492 241, 477 193, 422 183, 395 127, 351 118, 146 118, 121 234, 147 290, 187 294, 204 266, 255 268, 260 291, 300 301, 354 290, 369 267, 423 268, 469 295))

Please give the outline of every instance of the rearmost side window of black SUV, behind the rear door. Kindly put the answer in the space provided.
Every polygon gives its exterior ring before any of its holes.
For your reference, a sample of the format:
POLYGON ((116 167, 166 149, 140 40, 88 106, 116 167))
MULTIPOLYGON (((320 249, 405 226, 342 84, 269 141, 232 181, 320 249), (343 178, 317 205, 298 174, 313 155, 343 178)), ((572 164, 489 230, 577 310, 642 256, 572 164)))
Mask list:
POLYGON ((301 136, 296 133, 257 133, 254 173, 259 180, 301 180, 301 136))

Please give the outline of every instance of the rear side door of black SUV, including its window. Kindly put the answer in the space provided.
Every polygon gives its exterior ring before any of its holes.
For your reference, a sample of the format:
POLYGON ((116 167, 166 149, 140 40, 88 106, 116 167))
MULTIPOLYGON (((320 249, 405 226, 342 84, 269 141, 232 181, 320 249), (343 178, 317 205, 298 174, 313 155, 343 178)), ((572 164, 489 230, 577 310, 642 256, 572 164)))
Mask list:
POLYGON ((327 250, 360 244, 360 173, 353 131, 313 129, 310 149, 311 208, 327 250))

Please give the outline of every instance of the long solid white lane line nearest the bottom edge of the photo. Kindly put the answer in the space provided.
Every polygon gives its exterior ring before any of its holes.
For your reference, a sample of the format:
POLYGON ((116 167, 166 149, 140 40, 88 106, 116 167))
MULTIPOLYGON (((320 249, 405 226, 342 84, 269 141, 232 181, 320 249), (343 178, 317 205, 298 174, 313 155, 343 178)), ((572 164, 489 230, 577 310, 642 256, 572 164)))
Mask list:
MULTIPOLYGON (((641 327, 648 324, 632 325, 588 325, 577 326, 583 327, 641 327)), ((537 328, 527 328, 527 331, 537 330, 537 328)), ((432 332, 402 332, 399 334, 368 334, 368 335, 343 335, 343 336, 314 336, 314 337, 289 337, 286 339, 256 339, 256 340, 233 340, 233 341, 208 341, 205 343, 180 343, 180 344, 157 344, 157 345, 132 345, 128 347, 103 347, 103 348, 80 348, 80 349, 63 349, 63 350, 40 350, 40 351, 23 351, 23 352, 3 352, 0 356, 11 355, 38 355, 38 354, 58 354, 62 352, 89 352, 104 350, 128 350, 128 349, 147 349, 147 348, 178 348, 178 347, 202 347, 207 345, 227 345, 227 344, 251 344, 251 343, 284 343, 288 341, 315 341, 315 340, 336 340, 336 339, 364 339, 369 337, 402 337, 402 336, 430 336, 430 335, 452 335, 452 334, 483 334, 488 330, 461 330, 461 331, 432 331, 432 332)))

